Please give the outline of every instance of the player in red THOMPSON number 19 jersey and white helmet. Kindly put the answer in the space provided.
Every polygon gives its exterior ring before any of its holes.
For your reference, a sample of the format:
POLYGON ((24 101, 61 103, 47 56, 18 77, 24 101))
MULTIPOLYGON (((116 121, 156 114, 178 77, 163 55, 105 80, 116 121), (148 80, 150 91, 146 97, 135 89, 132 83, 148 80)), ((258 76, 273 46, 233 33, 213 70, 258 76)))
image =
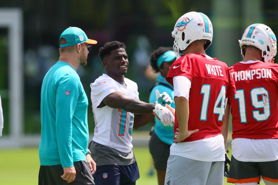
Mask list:
MULTIPOLYGON (((231 66, 237 89, 228 99, 224 125, 233 117, 232 158, 228 182, 278 184, 278 65, 276 37, 270 27, 253 24, 239 40, 244 60, 231 66)), ((228 129, 223 129, 227 135, 228 129)))

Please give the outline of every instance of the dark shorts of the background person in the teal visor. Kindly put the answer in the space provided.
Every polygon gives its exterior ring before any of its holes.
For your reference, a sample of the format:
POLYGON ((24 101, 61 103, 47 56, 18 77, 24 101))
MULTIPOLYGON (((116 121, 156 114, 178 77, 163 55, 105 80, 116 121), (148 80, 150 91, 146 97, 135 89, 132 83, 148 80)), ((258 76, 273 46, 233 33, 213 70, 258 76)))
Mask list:
POLYGON ((171 145, 162 142, 154 132, 151 134, 149 149, 153 157, 155 169, 166 170, 167 160, 170 156, 170 147, 171 145))

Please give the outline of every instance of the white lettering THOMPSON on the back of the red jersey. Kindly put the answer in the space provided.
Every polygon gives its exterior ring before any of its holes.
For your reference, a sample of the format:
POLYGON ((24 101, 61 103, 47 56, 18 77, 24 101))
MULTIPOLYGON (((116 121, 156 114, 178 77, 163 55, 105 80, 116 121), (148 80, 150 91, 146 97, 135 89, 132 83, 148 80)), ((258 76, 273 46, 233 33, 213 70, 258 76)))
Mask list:
POLYGON ((257 79, 271 78, 271 69, 259 68, 251 69, 248 71, 235 71, 231 73, 231 75, 235 81, 253 80, 254 77, 256 77, 257 79))

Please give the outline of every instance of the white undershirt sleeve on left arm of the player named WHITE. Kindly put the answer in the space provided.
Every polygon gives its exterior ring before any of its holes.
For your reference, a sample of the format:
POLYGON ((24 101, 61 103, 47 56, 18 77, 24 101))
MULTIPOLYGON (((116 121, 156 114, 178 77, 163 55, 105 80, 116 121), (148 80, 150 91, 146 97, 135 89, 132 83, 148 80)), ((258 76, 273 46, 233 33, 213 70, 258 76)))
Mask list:
POLYGON ((185 97, 189 101, 189 91, 191 88, 191 81, 185 76, 173 77, 174 97, 185 97))

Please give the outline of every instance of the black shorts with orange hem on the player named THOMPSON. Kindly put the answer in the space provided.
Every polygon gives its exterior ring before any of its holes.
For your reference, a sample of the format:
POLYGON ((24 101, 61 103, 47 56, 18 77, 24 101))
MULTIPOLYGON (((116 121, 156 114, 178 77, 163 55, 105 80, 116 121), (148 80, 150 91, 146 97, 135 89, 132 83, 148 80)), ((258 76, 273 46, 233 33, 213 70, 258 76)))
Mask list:
POLYGON ((260 176, 268 181, 278 182, 278 160, 268 162, 242 162, 233 156, 227 182, 260 182, 260 176))

